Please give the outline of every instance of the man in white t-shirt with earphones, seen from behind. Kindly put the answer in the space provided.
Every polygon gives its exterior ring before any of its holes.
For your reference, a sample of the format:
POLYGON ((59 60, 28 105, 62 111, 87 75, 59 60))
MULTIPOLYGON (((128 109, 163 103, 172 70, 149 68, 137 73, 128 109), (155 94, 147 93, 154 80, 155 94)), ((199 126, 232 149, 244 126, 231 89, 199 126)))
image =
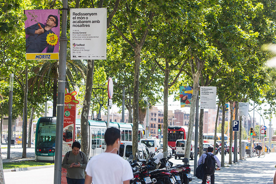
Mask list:
POLYGON ((121 133, 108 128, 104 134, 106 152, 91 158, 86 166, 85 184, 129 184, 132 168, 119 154, 121 133))

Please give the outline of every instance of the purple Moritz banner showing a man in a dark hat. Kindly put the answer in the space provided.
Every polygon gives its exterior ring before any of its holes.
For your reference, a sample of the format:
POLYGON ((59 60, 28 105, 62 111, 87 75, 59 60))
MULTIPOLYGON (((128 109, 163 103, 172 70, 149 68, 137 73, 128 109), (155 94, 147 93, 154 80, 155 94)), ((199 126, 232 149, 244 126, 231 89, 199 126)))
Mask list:
POLYGON ((60 11, 24 10, 26 60, 58 60, 60 47, 60 11))

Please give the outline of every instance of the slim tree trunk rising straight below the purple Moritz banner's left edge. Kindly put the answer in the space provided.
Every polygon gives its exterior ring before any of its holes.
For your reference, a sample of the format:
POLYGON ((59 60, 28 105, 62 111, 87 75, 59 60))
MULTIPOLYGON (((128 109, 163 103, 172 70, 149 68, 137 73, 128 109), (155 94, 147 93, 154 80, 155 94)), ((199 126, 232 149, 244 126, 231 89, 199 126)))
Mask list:
POLYGON ((25 89, 24 89, 24 139, 22 158, 27 158, 26 144, 27 144, 27 121, 28 121, 28 65, 25 66, 25 89))

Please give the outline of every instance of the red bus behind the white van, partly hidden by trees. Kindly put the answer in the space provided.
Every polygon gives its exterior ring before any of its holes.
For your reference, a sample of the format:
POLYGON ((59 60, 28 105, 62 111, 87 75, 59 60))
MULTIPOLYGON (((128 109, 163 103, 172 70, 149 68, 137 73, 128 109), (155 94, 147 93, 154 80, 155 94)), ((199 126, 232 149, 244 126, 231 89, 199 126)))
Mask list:
MULTIPOLYGON (((194 128, 193 128, 193 140, 194 140, 194 128)), ((172 147, 173 153, 175 153, 175 142, 177 139, 186 139, 186 133, 188 133, 187 126, 168 126, 168 146, 172 147)))

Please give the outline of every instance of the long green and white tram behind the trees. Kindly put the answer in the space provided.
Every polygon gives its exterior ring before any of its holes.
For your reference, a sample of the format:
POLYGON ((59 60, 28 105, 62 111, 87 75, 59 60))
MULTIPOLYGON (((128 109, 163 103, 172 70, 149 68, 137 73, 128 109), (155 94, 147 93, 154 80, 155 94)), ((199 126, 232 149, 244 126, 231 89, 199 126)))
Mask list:
MULTIPOLYGON (((104 133, 107 122, 89 120, 88 146, 89 158, 101 154, 106 149, 104 133)), ((110 122, 110 127, 121 131, 122 141, 132 141, 132 123, 110 122)), ((56 117, 40 117, 35 134, 35 159, 37 161, 54 161, 55 159, 56 117)), ((72 135, 63 132, 63 139, 72 139, 72 135)), ((139 124, 138 141, 143 138, 143 126, 139 124)), ((76 119, 75 141, 81 142, 81 120, 76 119)))

